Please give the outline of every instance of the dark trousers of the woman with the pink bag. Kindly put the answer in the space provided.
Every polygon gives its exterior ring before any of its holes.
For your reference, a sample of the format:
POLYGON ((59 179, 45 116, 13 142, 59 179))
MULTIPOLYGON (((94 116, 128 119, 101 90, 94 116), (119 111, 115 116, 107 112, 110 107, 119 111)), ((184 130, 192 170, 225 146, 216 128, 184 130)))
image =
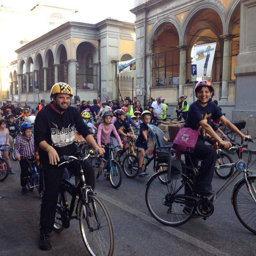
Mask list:
MULTIPOLYGON (((197 140, 194 152, 190 154, 194 167, 198 167, 198 160, 202 160, 199 174, 194 181, 193 190, 211 191, 214 166, 217 160, 217 152, 209 145, 205 145, 200 137, 197 140)), ((191 166, 188 156, 185 156, 186 165, 191 166)))

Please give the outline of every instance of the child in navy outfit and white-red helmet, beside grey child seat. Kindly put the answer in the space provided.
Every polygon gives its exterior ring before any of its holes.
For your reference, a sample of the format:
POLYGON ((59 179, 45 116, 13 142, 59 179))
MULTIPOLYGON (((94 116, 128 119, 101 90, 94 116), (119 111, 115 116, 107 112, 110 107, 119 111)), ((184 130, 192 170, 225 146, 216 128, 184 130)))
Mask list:
POLYGON ((148 124, 150 123, 151 120, 151 113, 148 110, 145 110, 141 114, 141 118, 143 123, 140 124, 140 131, 139 131, 139 136, 136 140, 135 146, 137 146, 138 151, 139 151, 139 167, 138 167, 138 176, 140 177, 149 177, 149 175, 143 171, 142 165, 143 165, 143 160, 146 155, 146 150, 148 149, 148 132, 149 132, 149 127, 148 124))

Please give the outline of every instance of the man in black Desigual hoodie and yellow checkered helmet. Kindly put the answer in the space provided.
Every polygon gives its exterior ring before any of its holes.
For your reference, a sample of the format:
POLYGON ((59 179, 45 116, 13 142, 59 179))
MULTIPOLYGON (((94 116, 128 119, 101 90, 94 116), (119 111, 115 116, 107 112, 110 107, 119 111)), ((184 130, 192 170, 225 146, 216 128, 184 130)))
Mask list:
MULTIPOLYGON (((40 211, 40 248, 50 250, 52 245, 49 233, 52 232, 58 200, 63 168, 58 168, 59 157, 71 155, 76 151, 75 130, 77 130, 91 146, 101 155, 105 150, 100 148, 82 121, 80 113, 70 106, 72 88, 63 82, 54 84, 50 92, 52 102, 44 107, 36 116, 34 123, 34 141, 39 146, 39 157, 45 191, 40 211)), ((88 160, 82 161, 86 183, 92 186, 94 170, 88 160), (86 167, 85 167, 86 166, 86 167)), ((69 171, 77 174, 75 162, 68 165, 69 171)))

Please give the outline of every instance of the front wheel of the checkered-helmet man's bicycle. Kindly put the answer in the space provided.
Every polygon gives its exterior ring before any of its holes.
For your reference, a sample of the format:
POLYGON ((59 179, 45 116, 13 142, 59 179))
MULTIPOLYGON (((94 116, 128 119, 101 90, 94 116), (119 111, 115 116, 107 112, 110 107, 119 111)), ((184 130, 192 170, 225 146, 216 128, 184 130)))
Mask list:
POLYGON ((113 255, 114 228, 110 214, 101 199, 88 195, 88 203, 81 203, 79 225, 90 255, 113 255))

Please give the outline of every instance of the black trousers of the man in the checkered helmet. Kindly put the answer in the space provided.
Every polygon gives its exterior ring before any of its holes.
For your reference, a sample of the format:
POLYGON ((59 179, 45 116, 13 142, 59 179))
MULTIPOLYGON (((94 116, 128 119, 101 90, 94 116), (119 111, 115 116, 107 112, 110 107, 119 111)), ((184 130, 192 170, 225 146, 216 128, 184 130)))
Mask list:
MULTIPOLYGON (((86 184, 93 187, 94 185, 94 169, 91 162, 88 160, 82 161, 84 166, 86 184)), ((70 162, 66 166, 69 171, 78 176, 78 163, 70 162)), ((48 234, 52 232, 54 225, 54 218, 56 206, 58 201, 58 194, 60 188, 60 181, 62 180, 63 168, 58 168, 56 165, 43 165, 43 178, 45 191, 42 197, 41 210, 40 210, 40 232, 48 234)))

